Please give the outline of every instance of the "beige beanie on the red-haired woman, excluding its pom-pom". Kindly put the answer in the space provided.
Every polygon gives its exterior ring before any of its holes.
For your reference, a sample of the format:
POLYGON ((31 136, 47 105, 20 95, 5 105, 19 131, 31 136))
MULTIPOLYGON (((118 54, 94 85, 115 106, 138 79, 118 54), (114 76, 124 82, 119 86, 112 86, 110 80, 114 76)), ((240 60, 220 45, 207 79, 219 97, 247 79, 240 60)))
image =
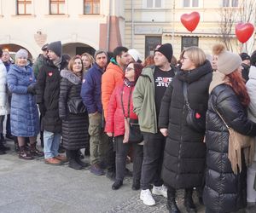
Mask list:
POLYGON ((229 75, 241 66, 241 57, 238 54, 231 53, 230 51, 222 51, 218 55, 218 72, 229 75))

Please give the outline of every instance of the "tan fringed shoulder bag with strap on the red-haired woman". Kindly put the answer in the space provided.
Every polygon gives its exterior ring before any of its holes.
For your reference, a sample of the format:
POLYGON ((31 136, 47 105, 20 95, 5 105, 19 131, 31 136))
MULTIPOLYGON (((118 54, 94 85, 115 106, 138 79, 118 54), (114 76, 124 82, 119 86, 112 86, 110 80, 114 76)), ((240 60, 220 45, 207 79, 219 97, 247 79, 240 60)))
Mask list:
POLYGON ((250 165, 253 162, 253 151, 254 151, 254 138, 241 135, 236 130, 232 129, 225 121, 223 116, 215 109, 215 112, 218 113, 219 118, 222 119, 224 125, 229 130, 229 150, 228 150, 228 158, 230 159, 230 164, 234 174, 237 174, 237 167, 239 172, 241 172, 241 151, 243 151, 245 156, 246 165, 250 165))

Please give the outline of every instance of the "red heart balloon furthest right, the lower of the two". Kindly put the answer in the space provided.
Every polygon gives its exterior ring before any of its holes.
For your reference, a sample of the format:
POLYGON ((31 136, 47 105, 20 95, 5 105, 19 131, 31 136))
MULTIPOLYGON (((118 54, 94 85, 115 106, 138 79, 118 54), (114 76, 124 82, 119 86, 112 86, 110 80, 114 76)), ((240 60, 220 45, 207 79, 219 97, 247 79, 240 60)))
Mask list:
POLYGON ((251 23, 239 23, 236 25, 236 37, 241 43, 246 43, 253 35, 254 26, 251 23))

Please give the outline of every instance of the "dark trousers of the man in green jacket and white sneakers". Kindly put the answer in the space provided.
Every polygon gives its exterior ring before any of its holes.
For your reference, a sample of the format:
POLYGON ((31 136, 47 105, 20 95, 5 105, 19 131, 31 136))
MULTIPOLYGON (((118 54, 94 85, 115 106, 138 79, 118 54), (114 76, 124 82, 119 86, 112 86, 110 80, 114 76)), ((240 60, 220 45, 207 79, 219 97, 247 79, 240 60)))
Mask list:
POLYGON ((160 187, 163 184, 161 170, 166 146, 166 137, 160 132, 153 134, 143 132, 143 168, 141 187, 143 190, 149 189, 150 184, 160 187))

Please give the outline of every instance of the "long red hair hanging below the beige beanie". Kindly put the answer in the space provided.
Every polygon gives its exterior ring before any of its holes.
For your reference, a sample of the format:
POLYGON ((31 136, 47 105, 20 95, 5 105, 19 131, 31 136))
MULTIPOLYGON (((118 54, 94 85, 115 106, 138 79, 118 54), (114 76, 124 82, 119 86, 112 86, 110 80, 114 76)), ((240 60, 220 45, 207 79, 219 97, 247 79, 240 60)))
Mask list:
POLYGON ((230 84, 236 95, 238 96, 241 104, 244 107, 248 107, 250 103, 250 97, 247 93, 247 88, 244 79, 241 77, 241 71, 236 70, 231 72, 227 77, 230 78, 230 84))

